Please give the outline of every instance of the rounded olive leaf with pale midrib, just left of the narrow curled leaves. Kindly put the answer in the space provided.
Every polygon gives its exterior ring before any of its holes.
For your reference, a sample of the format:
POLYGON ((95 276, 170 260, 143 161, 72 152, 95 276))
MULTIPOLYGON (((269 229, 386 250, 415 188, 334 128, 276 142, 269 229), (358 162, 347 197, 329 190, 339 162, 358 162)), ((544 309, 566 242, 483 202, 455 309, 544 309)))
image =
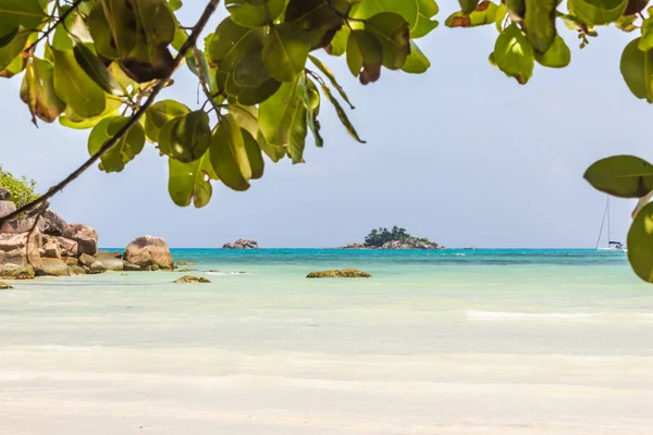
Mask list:
POLYGON ((309 48, 308 35, 297 24, 274 26, 263 46, 263 65, 279 82, 293 82, 304 71, 309 48))

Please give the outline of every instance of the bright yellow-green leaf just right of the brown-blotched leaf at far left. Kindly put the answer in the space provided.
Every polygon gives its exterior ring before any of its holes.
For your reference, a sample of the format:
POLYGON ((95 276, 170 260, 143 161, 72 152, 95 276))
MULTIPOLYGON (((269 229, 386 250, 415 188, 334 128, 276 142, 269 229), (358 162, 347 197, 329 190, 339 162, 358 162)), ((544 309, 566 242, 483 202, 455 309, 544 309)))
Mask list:
POLYGON ((72 51, 52 49, 54 57, 54 90, 61 100, 82 117, 97 116, 107 101, 100 88, 75 61, 72 51))

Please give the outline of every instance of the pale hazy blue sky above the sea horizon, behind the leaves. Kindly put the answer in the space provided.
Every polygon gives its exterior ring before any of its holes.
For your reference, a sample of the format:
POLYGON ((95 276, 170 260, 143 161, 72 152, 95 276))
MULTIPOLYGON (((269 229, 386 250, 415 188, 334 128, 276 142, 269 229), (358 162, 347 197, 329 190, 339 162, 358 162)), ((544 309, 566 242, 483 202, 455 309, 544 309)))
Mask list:
MULTIPOLYGON (((183 8, 187 24, 200 13, 190 3, 183 8)), ((615 153, 651 158, 653 108, 631 96, 619 74, 620 52, 636 36, 600 28, 579 50, 576 33, 562 28, 571 64, 537 66, 519 86, 488 62, 496 30, 444 27, 454 11, 447 3, 441 26, 418 41, 432 63, 423 75, 383 70, 380 82, 362 86, 344 58, 323 57, 356 105, 352 120, 366 145, 353 141, 323 104, 325 146, 317 149, 309 138, 306 164, 269 162, 246 192, 215 184, 204 209, 172 203, 167 161, 151 146, 120 174, 88 171, 52 208, 95 226, 106 247, 144 234, 172 247, 238 237, 263 247, 332 247, 394 224, 452 247, 592 247, 605 196, 582 173, 615 153)), ((196 80, 185 71, 175 80, 165 96, 194 107, 196 80)), ((0 163, 45 191, 88 157, 88 130, 35 128, 20 82, 0 82, 0 163)), ((625 239, 632 207, 612 201, 613 238, 625 239)))

